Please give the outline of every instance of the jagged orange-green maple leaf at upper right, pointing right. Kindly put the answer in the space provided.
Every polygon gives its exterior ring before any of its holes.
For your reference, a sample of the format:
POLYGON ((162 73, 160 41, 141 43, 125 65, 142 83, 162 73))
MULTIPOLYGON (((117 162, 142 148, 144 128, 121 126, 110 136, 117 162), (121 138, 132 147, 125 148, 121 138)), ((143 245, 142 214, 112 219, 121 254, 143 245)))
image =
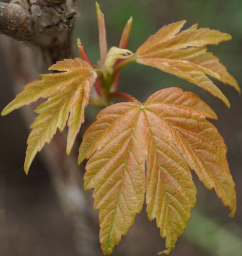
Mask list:
POLYGON ((150 36, 137 49, 137 62, 194 83, 229 107, 228 99, 207 75, 233 86, 238 92, 240 87, 219 59, 206 52, 205 46, 230 40, 231 36, 209 28, 198 29, 197 24, 180 32, 185 23, 186 20, 171 23, 150 36))

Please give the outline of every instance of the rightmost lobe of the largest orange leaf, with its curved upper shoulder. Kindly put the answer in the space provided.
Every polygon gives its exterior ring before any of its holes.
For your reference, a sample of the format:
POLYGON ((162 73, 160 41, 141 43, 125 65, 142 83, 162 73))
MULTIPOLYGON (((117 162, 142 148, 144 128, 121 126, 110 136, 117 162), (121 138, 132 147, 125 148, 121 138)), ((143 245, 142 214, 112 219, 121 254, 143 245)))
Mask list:
MULTIPOLYGON (((177 101, 178 94, 176 90, 178 89, 168 88, 158 91, 148 98, 146 105, 150 111, 164 118, 174 128, 176 141, 174 144, 190 169, 196 172, 208 189, 215 189, 223 204, 229 206, 233 216, 236 211, 236 194, 226 159, 227 147, 216 127, 204 118, 215 118, 215 116, 204 109, 204 106, 208 106, 195 95, 193 96, 196 100, 203 102, 202 108, 202 105, 196 105, 195 108, 190 108, 190 112, 186 108, 174 108, 173 99, 177 101), (162 104, 158 103, 164 100, 166 103, 172 103, 173 113, 164 111, 162 104)), ((179 91, 182 93, 181 89, 179 91)), ((184 102, 186 107, 189 107, 189 103, 184 102)))

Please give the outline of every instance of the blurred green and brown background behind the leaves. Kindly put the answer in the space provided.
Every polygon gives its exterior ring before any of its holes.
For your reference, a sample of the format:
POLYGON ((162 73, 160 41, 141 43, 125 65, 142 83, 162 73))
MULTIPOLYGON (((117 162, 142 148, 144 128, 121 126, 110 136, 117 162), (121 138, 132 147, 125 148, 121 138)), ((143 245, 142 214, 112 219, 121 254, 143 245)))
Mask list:
MULTIPOLYGON (((80 37, 89 57, 96 63, 99 53, 94 0, 77 0, 76 4, 81 15, 76 19, 74 39, 80 37)), ((106 18, 109 47, 118 45, 130 16, 133 17, 128 45, 131 51, 161 26, 178 20, 187 20, 186 28, 199 23, 231 34, 233 40, 209 46, 209 50, 242 85, 241 0, 99 0, 99 4, 106 18)), ((13 74, 5 64, 2 51, 0 48, 0 109, 15 96, 13 74)), ((238 197, 235 217, 229 218, 228 209, 215 192, 207 191, 193 175, 198 189, 197 205, 171 256, 242 256, 242 98, 232 87, 218 81, 216 84, 230 100, 230 109, 197 86, 156 69, 131 64, 121 75, 119 90, 140 100, 170 86, 197 93, 217 113, 219 120, 213 123, 228 146, 227 158, 238 197)), ((96 111, 87 109, 87 122, 94 120, 96 111)), ((81 133, 87 126, 88 123, 81 133)), ((78 246, 73 222, 63 212, 39 155, 30 174, 24 174, 28 134, 20 111, 0 117, 0 256, 82 256, 83 248, 78 246)), ((81 141, 81 136, 78 140, 81 141)), ((97 221, 97 215, 95 218, 97 221)), ((98 239, 98 230, 93 236, 98 239)), ((113 256, 154 256, 165 248, 164 241, 155 221, 147 219, 144 206, 128 235, 123 236, 120 246, 114 249, 113 256)), ((93 256, 102 255, 98 246, 93 244, 93 256)))

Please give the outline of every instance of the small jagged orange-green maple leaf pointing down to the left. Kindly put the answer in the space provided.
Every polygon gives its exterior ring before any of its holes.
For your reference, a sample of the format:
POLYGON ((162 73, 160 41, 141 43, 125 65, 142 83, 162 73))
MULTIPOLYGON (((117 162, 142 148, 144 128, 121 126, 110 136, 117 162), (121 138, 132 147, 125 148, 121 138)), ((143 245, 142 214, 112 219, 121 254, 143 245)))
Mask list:
POLYGON ((84 109, 89 101, 90 87, 96 79, 93 67, 82 59, 65 59, 58 61, 49 70, 61 71, 55 74, 44 74, 41 80, 27 84, 24 90, 1 112, 7 115, 23 105, 30 104, 38 98, 48 98, 35 109, 39 114, 31 125, 28 147, 24 163, 26 173, 44 144, 50 143, 68 121, 67 154, 70 154, 74 139, 84 121, 84 109))

